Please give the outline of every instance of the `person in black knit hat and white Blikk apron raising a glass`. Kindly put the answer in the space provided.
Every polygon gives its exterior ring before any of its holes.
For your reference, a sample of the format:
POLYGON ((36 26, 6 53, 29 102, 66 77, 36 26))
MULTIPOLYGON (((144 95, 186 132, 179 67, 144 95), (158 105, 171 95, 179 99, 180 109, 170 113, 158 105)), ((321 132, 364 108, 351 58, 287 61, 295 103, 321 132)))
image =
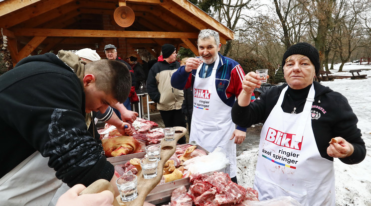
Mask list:
POLYGON ((321 67, 314 46, 292 45, 282 64, 287 84, 250 103, 261 86, 250 72, 232 107, 236 124, 264 122, 254 189, 260 201, 290 196, 302 206, 335 206, 334 158, 357 164, 366 156, 357 116, 343 95, 313 81, 321 67))

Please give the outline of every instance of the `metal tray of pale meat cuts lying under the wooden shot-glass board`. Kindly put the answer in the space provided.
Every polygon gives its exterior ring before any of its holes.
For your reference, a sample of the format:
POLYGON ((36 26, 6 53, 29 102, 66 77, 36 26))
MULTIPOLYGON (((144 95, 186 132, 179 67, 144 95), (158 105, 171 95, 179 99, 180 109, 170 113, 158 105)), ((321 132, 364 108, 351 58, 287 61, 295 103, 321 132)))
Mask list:
MULTIPOLYGON (((221 157, 225 158, 225 160, 220 160, 221 158, 218 155, 221 154, 222 153, 219 150, 209 153, 199 145, 177 145, 176 152, 171 158, 169 158, 164 166, 164 175, 161 182, 147 196, 146 202, 154 205, 169 202, 172 192, 175 189, 182 186, 186 187, 186 189, 189 188, 189 176, 192 172, 199 172, 207 175, 211 175, 215 171, 224 173, 229 172, 228 160, 225 156, 221 157), (215 161, 212 163, 215 159, 218 160, 217 163, 215 161), (215 167, 207 165, 208 163, 211 163, 215 167), (221 166, 218 163, 220 163, 221 166), (194 166, 197 168, 194 168, 194 166), (208 172, 204 172, 205 169, 208 172)), ((145 155, 145 152, 140 152, 119 157, 111 157, 107 158, 107 160, 115 166, 115 175, 120 177, 128 171, 137 174, 140 169, 139 161, 145 155)))

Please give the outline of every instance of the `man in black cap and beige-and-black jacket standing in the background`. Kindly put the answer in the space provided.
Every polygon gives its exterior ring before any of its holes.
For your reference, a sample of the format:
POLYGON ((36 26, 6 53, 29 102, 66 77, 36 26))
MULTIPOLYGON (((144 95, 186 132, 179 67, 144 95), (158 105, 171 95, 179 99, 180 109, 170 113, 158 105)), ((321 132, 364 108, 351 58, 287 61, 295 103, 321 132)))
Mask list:
MULTIPOLYGON (((173 88, 170 83, 173 73, 181 66, 176 61, 177 51, 172 44, 164 44, 161 51, 162 55, 148 74, 147 93, 157 103, 166 127, 186 127, 185 115, 182 113, 183 90, 173 88)), ((185 136, 178 143, 185 144, 185 136)))

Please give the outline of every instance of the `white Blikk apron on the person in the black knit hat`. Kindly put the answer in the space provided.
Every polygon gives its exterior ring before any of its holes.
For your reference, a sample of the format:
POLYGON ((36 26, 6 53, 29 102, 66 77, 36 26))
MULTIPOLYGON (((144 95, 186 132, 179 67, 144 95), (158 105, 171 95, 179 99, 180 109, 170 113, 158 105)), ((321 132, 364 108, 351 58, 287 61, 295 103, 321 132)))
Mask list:
POLYGON ((314 87, 299 114, 282 110, 286 91, 287 87, 260 134, 254 189, 260 201, 291 196, 303 206, 335 206, 334 164, 321 157, 312 130, 314 87))

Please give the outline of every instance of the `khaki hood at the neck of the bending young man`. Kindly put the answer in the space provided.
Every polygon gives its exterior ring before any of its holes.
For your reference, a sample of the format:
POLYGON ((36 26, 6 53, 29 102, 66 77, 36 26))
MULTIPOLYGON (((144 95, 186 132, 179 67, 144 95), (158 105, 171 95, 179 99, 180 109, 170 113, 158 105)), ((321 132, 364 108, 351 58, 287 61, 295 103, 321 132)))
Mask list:
POLYGON ((84 68, 86 62, 81 60, 80 57, 77 56, 76 54, 63 50, 60 50, 58 52, 58 57, 73 70, 73 72, 79 78, 81 86, 83 86, 84 68))

